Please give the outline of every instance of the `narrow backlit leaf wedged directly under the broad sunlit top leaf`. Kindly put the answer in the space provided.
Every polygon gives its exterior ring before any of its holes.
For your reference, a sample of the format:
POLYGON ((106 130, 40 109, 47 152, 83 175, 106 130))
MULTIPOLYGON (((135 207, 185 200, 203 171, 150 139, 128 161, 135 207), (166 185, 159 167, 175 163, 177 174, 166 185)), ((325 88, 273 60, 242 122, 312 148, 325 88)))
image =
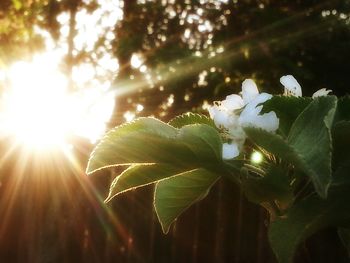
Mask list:
POLYGON ((164 178, 174 176, 189 170, 187 167, 171 166, 168 164, 133 165, 117 176, 109 189, 105 202, 126 191, 156 183, 164 178))

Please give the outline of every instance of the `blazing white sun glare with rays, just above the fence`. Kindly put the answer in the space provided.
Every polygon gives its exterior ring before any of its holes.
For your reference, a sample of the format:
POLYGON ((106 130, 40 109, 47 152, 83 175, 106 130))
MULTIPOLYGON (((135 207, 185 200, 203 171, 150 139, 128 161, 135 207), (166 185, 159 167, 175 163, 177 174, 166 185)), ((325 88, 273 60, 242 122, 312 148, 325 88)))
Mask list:
POLYGON ((0 94, 0 132, 35 151, 67 148, 69 138, 96 141, 114 108, 112 94, 97 89, 71 92, 60 72, 60 54, 46 52, 12 64, 0 94))

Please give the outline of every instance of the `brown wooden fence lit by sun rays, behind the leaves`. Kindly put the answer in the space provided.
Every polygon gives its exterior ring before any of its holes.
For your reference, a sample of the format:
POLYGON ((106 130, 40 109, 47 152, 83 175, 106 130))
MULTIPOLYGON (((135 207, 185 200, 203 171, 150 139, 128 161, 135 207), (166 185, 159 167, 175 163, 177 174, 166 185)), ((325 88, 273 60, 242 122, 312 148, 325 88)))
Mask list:
MULTIPOLYGON (((77 166, 64 156, 24 159, 19 149, 5 155, 9 143, 2 145, 0 262, 276 262, 267 214, 228 181, 217 183, 164 235, 151 186, 103 203, 111 178, 106 171, 84 174, 88 147, 78 147, 77 166)), ((303 245, 295 262, 347 262, 345 256, 329 229, 303 245)))

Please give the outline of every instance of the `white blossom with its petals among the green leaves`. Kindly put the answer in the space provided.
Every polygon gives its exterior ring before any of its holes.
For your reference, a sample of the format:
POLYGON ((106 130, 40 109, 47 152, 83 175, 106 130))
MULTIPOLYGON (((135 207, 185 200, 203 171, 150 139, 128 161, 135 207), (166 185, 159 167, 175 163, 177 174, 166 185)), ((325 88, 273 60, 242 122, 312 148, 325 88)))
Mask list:
MULTIPOLYGON (((298 81, 292 76, 282 76, 281 84, 284 86, 284 95, 301 97, 302 91, 298 81)), ((321 89, 314 93, 313 98, 327 95, 331 90, 321 89)), ((268 132, 276 132, 279 119, 274 111, 261 114, 262 103, 271 99, 268 93, 259 93, 252 79, 242 83, 240 95, 232 94, 223 101, 216 101, 208 108, 210 117, 216 127, 225 131, 229 142, 222 147, 222 158, 225 160, 237 157, 246 140, 244 127, 257 127, 268 132)))

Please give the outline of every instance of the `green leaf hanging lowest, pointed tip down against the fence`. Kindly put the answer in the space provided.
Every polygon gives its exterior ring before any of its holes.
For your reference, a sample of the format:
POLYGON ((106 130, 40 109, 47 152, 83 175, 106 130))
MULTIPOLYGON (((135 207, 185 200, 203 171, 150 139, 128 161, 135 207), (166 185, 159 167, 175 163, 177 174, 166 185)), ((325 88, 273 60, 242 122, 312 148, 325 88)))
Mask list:
POLYGON ((202 200, 219 176, 205 169, 195 169, 157 183, 154 207, 163 232, 187 208, 202 200))

